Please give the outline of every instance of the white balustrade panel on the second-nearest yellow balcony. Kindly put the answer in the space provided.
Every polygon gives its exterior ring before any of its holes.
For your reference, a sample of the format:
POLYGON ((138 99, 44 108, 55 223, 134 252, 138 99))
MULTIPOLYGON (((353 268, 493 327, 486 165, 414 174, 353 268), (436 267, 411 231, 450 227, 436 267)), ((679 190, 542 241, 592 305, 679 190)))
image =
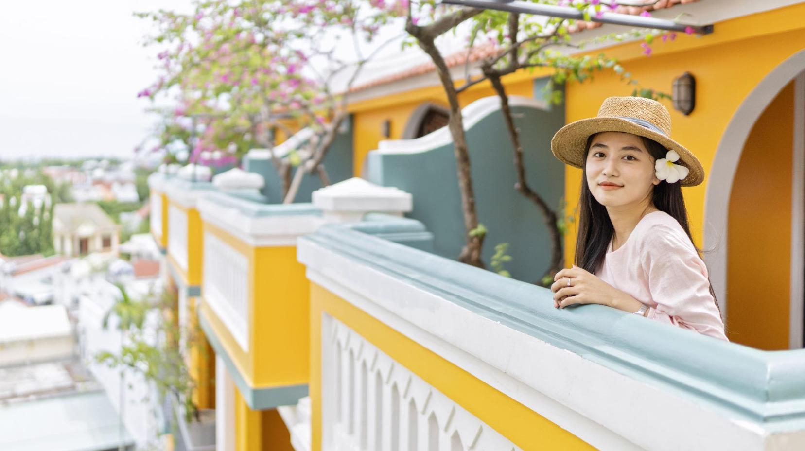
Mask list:
POLYGON ((204 234, 204 302, 249 350, 249 259, 221 238, 204 234))

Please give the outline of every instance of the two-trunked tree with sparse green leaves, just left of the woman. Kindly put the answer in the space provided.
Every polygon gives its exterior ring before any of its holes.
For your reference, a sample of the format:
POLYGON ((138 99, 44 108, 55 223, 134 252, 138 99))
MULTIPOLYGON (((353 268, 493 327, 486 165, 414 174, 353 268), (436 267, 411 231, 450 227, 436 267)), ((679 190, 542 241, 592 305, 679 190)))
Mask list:
MULTIPOLYGON (((579 10, 584 21, 589 22, 592 16, 600 18, 605 9, 617 10, 617 2, 602 3, 600 0, 532 0, 532 3, 541 3, 553 6, 568 6, 579 10)), ((650 13, 643 10, 642 16, 650 13)), ((642 48, 646 56, 651 54, 651 44, 655 38, 663 41, 674 40, 675 33, 665 33, 653 29, 638 29, 625 33, 611 33, 583 42, 572 42, 571 33, 580 26, 580 21, 559 17, 545 17, 536 14, 518 14, 499 10, 483 10, 477 8, 437 6, 435 1, 423 0, 411 3, 408 8, 406 31, 410 35, 407 45, 416 43, 428 56, 431 56, 436 71, 440 77, 444 93, 450 104, 450 126, 452 141, 456 152, 456 169, 458 172, 461 205, 464 210, 464 228, 467 231, 466 244, 459 255, 460 261, 482 267, 480 260, 483 235, 478 234, 480 219, 477 215, 473 193, 472 170, 469 159, 468 143, 464 134, 463 118, 460 110, 458 96, 471 87, 489 82, 498 97, 509 130, 510 139, 514 147, 515 170, 518 182, 515 189, 532 201, 545 217, 551 238, 551 266, 547 275, 542 277, 543 282, 548 275, 559 271, 564 266, 562 251, 562 235, 565 230, 566 218, 559 218, 560 214, 553 211, 543 198, 534 189, 530 188, 526 180, 526 168, 522 159, 522 144, 519 132, 514 125, 513 115, 508 106, 508 94, 502 78, 514 72, 523 70, 533 71, 535 68, 544 68, 549 71, 550 79, 543 91, 551 103, 563 101, 563 93, 556 89, 564 83, 577 81, 592 81, 594 75, 601 71, 617 73, 626 85, 633 88, 632 95, 650 97, 654 99, 670 98, 666 93, 646 88, 626 72, 618 64, 617 59, 606 56, 584 54, 584 52, 561 52, 557 48, 576 48, 583 50, 590 44, 621 42, 625 39, 643 39, 642 48), (464 58, 464 80, 453 80, 445 56, 441 54, 436 45, 436 39, 452 32, 453 35, 461 33, 466 39, 466 55, 464 58), (475 50, 487 51, 486 56, 479 61, 479 68, 470 68, 473 58, 471 53, 475 50), (479 73, 480 72, 480 73, 479 73)), ((687 27, 686 33, 691 34, 692 28, 687 27)))

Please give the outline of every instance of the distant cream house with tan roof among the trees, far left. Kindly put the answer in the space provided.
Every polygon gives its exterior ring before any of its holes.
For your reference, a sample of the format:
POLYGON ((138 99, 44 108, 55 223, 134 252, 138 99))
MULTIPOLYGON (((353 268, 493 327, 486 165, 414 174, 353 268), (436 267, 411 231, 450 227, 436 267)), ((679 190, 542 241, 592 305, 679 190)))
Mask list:
POLYGON ((118 254, 120 230, 97 204, 57 204, 53 213, 53 248, 71 257, 118 254))

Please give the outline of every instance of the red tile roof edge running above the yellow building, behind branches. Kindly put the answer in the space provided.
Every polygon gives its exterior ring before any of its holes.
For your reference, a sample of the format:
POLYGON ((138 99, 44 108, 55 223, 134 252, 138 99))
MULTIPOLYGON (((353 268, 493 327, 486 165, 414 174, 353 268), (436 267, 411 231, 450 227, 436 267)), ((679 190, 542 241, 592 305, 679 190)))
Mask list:
MULTIPOLYGON (((654 11, 654 10, 664 10, 667 8, 671 8, 672 6, 679 5, 679 4, 686 4, 686 3, 694 3, 699 2, 700 0, 658 0, 654 4, 649 6, 617 6, 614 12, 619 14, 630 14, 630 15, 640 15, 643 11, 654 11)), ((603 23, 597 22, 576 22, 573 24, 572 27, 569 27, 568 30, 571 33, 577 33, 579 31, 590 30, 592 28, 598 28, 603 26, 603 23)), ((485 44, 483 46, 478 46, 473 48, 468 55, 466 50, 462 50, 461 52, 456 52, 444 59, 444 62, 447 63, 448 68, 455 68, 456 66, 460 66, 461 64, 467 64, 467 60, 470 63, 474 63, 479 60, 483 60, 485 58, 489 58, 489 56, 495 55, 497 52, 497 48, 494 45, 485 44)), ((419 64, 412 68, 404 68, 401 72, 397 72, 386 77, 380 77, 377 80, 368 81, 363 85, 357 85, 353 88, 349 89, 350 93, 356 93, 358 91, 363 91, 365 89, 374 88, 375 86, 380 85, 387 85, 389 83, 394 83, 394 81, 401 81, 405 80, 408 77, 417 77, 419 75, 424 75, 428 72, 436 71, 436 66, 432 62, 427 62, 423 64, 419 64)))

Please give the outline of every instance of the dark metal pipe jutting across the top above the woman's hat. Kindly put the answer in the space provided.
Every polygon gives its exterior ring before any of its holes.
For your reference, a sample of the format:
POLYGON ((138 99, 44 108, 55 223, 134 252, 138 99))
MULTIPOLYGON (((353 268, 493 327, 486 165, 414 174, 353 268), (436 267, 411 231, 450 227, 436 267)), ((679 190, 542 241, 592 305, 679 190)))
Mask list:
MULTIPOLYGON (((485 10, 499 10, 511 13, 547 15, 562 19, 585 20, 584 13, 572 6, 541 5, 538 3, 519 2, 517 0, 440 0, 440 3, 469 6, 485 10)), ((654 28, 667 31, 685 31, 687 27, 691 27, 694 33, 700 35, 708 35, 713 31, 712 25, 686 25, 684 23, 675 23, 673 20, 612 12, 602 13, 600 18, 592 14, 589 18, 589 22, 612 23, 614 25, 625 25, 627 27, 654 28)))

